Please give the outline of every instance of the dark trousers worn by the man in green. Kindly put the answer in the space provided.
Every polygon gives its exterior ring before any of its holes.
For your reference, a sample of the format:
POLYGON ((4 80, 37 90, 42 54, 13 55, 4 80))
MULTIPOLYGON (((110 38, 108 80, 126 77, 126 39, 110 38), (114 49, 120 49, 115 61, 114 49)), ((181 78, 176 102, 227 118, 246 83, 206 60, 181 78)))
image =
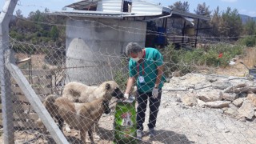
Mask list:
POLYGON ((157 122, 158 118, 158 108, 161 102, 161 95, 162 90, 159 90, 158 98, 153 98, 152 93, 141 93, 138 91, 137 96, 137 130, 143 130, 143 123, 145 122, 145 112, 146 112, 146 105, 149 99, 150 101, 150 118, 148 127, 149 129, 153 129, 155 127, 155 123, 157 122))

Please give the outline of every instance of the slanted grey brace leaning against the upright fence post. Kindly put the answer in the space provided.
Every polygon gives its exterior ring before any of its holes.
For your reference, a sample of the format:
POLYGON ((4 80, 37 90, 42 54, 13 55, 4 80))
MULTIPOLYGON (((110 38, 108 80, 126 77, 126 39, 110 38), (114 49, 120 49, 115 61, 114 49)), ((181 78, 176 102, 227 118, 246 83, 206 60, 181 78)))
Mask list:
POLYGON ((26 94, 26 98, 29 100, 31 106, 33 106, 34 110, 37 112, 39 117, 41 118, 43 124, 46 126, 46 129, 50 132, 52 138, 56 143, 69 143, 61 130, 59 130, 58 126, 54 122, 54 119, 50 117, 50 114, 46 110, 46 108, 42 105, 41 100, 38 98, 37 94, 34 92, 30 83, 26 80, 22 71, 19 70, 18 66, 10 63, 10 50, 6 50, 6 67, 10 71, 10 74, 13 76, 15 81, 18 83, 18 86, 21 87, 24 94, 26 94))

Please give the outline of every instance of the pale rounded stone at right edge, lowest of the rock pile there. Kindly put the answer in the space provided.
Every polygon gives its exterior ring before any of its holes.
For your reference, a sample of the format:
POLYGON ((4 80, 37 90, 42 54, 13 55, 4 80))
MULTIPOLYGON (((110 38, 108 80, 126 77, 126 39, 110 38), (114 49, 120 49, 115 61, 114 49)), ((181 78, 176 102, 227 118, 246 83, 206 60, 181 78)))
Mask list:
POLYGON ((254 104, 250 100, 245 100, 242 103, 242 106, 238 109, 238 113, 246 117, 248 119, 252 119, 254 117, 254 104))

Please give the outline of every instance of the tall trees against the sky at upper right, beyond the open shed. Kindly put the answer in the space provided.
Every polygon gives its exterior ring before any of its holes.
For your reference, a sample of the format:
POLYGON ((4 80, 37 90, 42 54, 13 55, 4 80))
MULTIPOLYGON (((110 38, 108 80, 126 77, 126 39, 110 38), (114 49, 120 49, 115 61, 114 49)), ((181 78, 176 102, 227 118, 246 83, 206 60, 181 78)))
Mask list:
MULTIPOLYGON (((178 1, 169 7, 190 12, 189 2, 178 1)), ((206 2, 199 3, 194 13, 210 17, 210 22, 200 23, 202 27, 209 29, 200 32, 208 37, 214 37, 214 41, 232 43, 238 41, 246 46, 255 46, 256 18, 239 14, 237 9, 232 10, 230 7, 224 11, 221 11, 219 7, 210 10, 210 6, 207 6, 206 2)))

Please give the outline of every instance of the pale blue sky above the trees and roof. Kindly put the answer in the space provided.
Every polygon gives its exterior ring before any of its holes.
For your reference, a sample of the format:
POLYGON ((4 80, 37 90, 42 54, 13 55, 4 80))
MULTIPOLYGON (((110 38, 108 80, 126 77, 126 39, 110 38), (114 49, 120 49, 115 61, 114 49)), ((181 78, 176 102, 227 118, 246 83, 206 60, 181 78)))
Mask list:
MULTIPOLYGON (((22 15, 27 16, 31 11, 40 10, 43 11, 48 8, 50 11, 62 10, 62 7, 67 6, 73 2, 79 0, 18 0, 18 5, 14 10, 22 10, 22 15)), ((162 6, 169 6, 177 2, 178 0, 147 0, 147 2, 161 3, 162 6)), ((0 1, 0 8, 6 1, 0 1)), ((210 6, 210 10, 214 11, 217 6, 220 10, 225 11, 227 7, 231 10, 237 9, 239 14, 246 14, 251 17, 256 17, 256 0, 186 0, 181 2, 189 2, 190 13, 194 13, 198 4, 206 2, 206 6, 210 6)))

